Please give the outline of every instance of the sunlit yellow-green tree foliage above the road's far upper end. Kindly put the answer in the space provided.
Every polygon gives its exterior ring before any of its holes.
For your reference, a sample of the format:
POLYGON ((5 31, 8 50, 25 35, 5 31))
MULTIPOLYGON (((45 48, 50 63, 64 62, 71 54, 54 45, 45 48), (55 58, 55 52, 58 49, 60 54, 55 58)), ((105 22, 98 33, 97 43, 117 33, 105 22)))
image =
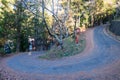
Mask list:
MULTIPOLYGON (((115 13, 115 0, 112 0, 111 3, 104 0, 71 0, 70 9, 73 11, 72 17, 80 17, 80 19, 77 18, 77 21, 80 20, 80 26, 88 27, 94 26, 96 21, 102 22, 103 19, 115 13), (104 14, 107 14, 107 16, 104 14)), ((65 1, 62 4, 67 5, 65 1)))

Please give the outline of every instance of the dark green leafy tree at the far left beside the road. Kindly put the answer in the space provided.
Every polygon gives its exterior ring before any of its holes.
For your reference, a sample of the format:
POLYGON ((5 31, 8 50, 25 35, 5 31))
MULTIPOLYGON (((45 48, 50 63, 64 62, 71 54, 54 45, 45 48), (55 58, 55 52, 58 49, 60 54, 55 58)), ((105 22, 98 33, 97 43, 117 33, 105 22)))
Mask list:
POLYGON ((31 25, 32 15, 25 10, 22 2, 17 1, 14 7, 13 12, 2 9, 0 37, 13 40, 16 47, 20 43, 20 51, 26 51, 26 48, 28 48, 28 36, 33 35, 33 25, 31 25), (21 40, 16 42, 18 38, 21 40))

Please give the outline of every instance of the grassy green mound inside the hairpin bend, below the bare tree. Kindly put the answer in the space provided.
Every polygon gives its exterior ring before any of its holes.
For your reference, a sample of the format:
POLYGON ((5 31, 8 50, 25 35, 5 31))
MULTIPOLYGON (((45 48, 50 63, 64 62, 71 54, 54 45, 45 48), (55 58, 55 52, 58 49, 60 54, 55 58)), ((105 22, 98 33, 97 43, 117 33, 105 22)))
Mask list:
POLYGON ((60 59, 63 57, 73 56, 81 53, 86 45, 85 38, 80 36, 79 43, 76 44, 72 37, 68 37, 64 39, 63 46, 64 49, 60 49, 60 47, 53 46, 49 51, 47 51, 44 55, 39 56, 41 59, 60 59))

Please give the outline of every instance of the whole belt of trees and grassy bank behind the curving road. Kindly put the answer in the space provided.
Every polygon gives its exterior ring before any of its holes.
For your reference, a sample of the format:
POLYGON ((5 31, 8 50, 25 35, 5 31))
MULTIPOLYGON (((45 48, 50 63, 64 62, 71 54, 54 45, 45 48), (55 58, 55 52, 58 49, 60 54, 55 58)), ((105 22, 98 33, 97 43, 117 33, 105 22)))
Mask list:
POLYGON ((34 51, 74 55, 85 43, 80 41, 77 48, 75 30, 110 22, 118 17, 119 8, 119 0, 0 0, 0 54, 6 53, 5 45, 9 53, 27 52, 32 42, 34 51))

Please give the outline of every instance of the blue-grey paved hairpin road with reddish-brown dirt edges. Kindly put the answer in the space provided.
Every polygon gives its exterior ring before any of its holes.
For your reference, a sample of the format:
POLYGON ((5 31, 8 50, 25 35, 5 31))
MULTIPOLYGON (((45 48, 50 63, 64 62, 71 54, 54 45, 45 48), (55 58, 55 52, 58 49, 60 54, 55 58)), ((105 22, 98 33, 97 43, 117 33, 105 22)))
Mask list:
POLYGON ((86 39, 81 54, 48 61, 38 59, 44 52, 23 53, 3 60, 2 67, 13 80, 120 80, 120 42, 103 27, 88 30, 86 39))

